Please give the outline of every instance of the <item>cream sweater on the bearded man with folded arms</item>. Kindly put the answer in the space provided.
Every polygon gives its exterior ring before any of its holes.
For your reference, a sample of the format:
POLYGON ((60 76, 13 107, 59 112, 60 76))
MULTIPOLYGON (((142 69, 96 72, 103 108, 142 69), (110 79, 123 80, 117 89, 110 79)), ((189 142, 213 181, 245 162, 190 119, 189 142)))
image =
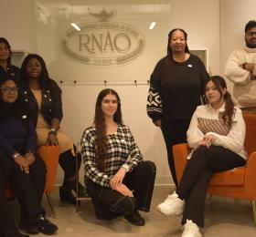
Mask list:
POLYGON ((251 74, 240 67, 244 63, 256 63, 256 48, 245 47, 232 52, 226 63, 225 74, 234 83, 233 94, 239 107, 256 107, 256 67, 251 74))

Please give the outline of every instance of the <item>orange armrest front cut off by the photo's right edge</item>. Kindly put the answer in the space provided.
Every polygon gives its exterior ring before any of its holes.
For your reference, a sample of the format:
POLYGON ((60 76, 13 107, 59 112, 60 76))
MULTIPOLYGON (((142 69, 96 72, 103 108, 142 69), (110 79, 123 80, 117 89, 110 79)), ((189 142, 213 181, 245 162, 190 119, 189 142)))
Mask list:
POLYGON ((256 151, 252 152, 248 163, 247 163, 247 172, 245 175, 245 192, 252 195, 254 200, 256 200, 256 189, 255 189, 255 180, 256 180, 256 151))

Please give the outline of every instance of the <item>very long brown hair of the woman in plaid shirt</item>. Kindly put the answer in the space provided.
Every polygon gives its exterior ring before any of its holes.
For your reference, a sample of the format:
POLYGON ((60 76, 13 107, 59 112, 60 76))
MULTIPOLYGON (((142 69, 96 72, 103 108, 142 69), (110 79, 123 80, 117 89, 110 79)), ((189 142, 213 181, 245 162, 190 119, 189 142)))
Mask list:
POLYGON ((120 98, 116 91, 112 88, 105 88, 101 90, 98 95, 96 105, 95 105, 95 116, 94 116, 94 125, 96 129, 96 157, 97 165, 100 170, 104 170, 105 160, 107 155, 107 133, 106 133, 106 123, 105 118, 101 109, 101 102, 104 97, 107 95, 114 95, 117 98, 117 110, 113 115, 113 120, 118 124, 123 124, 122 111, 121 111, 121 102, 120 98))

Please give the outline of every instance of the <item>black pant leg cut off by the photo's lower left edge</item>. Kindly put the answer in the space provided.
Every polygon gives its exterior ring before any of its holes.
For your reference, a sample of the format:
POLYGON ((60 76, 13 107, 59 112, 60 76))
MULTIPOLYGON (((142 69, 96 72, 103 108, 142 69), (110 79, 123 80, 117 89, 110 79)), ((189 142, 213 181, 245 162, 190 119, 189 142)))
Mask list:
POLYGON ((0 236, 16 228, 11 213, 5 201, 5 184, 11 175, 11 162, 4 159, 4 154, 0 151, 0 236))

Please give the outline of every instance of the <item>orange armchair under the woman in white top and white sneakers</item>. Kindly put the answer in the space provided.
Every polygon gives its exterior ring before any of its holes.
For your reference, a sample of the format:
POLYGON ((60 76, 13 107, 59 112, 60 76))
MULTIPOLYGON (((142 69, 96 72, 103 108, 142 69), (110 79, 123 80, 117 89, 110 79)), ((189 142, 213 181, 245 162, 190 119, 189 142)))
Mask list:
MULTIPOLYGON (((208 185, 208 193, 251 201, 254 222, 256 223, 256 115, 244 114, 243 118, 246 124, 244 146, 249 155, 247 165, 214 174, 208 185)), ((187 143, 173 146, 178 182, 185 170, 189 152, 190 148, 187 143)))

